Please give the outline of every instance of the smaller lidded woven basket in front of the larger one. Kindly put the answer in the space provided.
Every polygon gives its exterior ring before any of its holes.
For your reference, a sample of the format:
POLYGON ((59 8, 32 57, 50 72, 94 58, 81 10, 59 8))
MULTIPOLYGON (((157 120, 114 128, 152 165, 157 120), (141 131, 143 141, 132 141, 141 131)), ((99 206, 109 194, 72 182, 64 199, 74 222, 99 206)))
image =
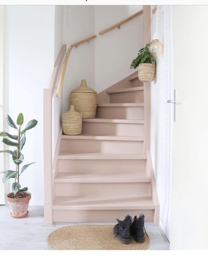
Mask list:
POLYGON ((70 110, 62 114, 62 129, 66 135, 78 135, 82 132, 82 114, 70 106, 70 110))

